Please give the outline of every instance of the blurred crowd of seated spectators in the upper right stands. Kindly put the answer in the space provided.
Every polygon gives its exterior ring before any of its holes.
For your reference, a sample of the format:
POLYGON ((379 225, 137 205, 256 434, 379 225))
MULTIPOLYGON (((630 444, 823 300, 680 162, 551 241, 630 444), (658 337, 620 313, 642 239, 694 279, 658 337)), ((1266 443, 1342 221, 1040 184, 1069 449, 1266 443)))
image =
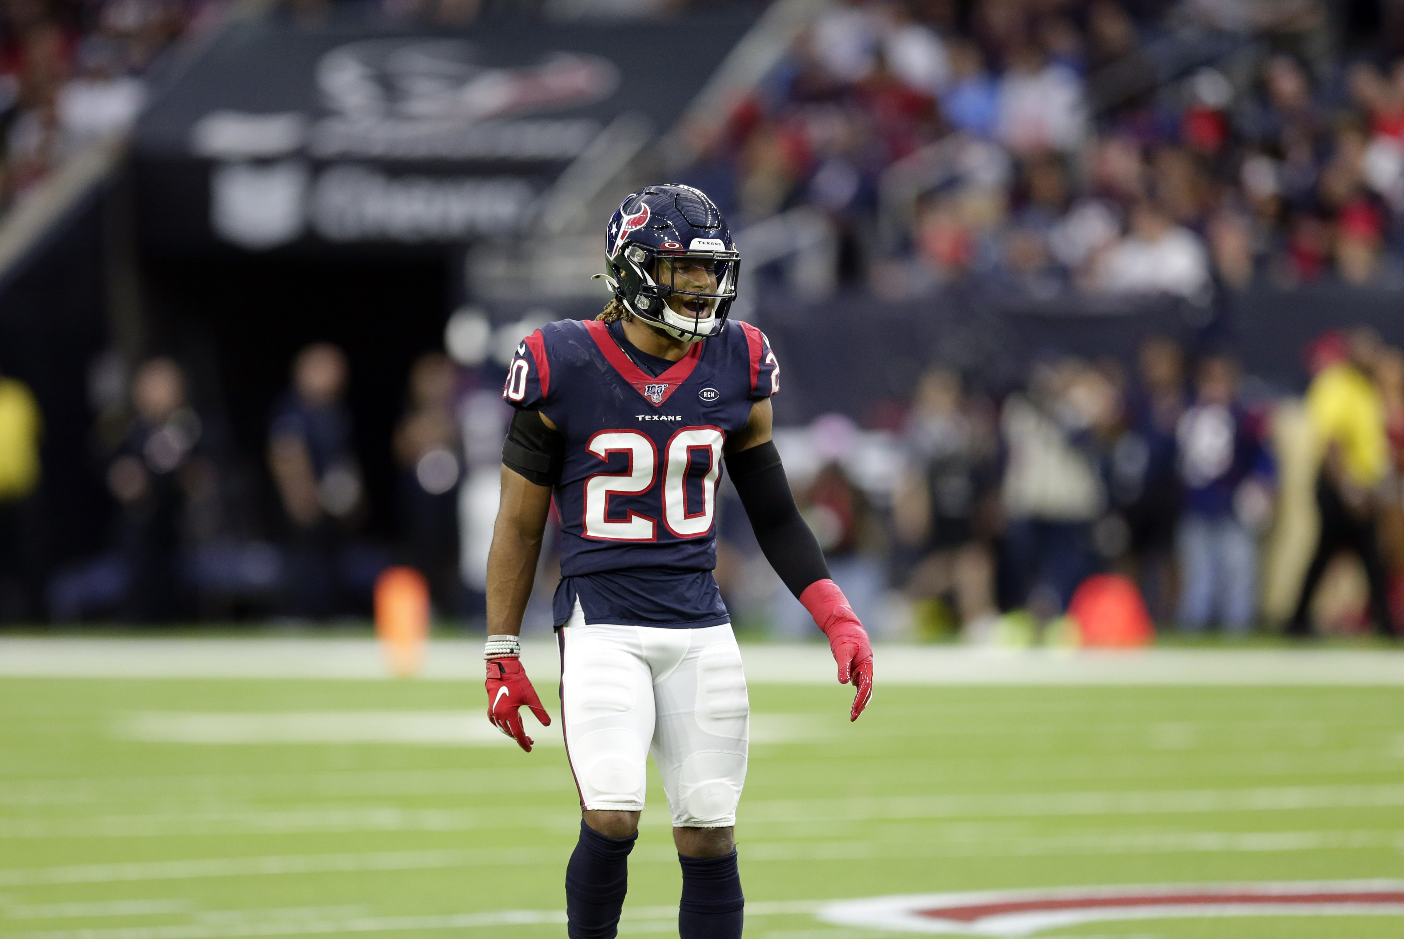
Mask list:
POLYGON ((848 0, 694 180, 741 220, 823 212, 882 296, 1397 286, 1398 24, 1342 55, 1360 6, 848 0), (1205 65, 1165 80, 1177 56, 1205 65))

